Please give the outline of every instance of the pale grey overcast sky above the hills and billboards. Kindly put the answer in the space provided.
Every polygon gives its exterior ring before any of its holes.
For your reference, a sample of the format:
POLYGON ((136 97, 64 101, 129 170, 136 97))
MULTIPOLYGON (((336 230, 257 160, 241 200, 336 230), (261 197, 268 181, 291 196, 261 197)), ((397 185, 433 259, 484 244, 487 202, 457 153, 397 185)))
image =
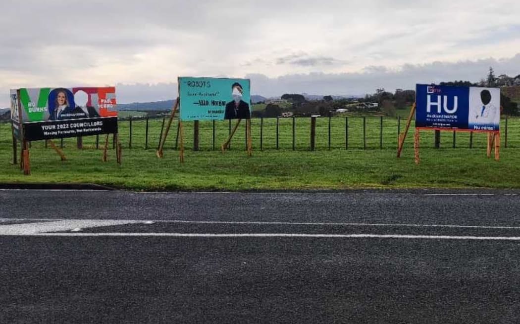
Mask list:
POLYGON ((177 95, 178 76, 253 94, 372 93, 520 74, 520 1, 2 0, 0 107, 20 87, 177 95))

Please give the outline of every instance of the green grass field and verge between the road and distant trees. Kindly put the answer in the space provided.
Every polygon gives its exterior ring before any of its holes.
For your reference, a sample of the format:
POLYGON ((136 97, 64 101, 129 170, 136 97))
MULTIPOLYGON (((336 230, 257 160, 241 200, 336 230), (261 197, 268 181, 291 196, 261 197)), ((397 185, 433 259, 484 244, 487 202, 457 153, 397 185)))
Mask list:
MULTIPOLYGON (((11 138, 8 124, 0 125, 0 182, 93 183, 133 190, 300 190, 348 188, 520 188, 520 120, 508 121, 508 147, 502 145, 501 159, 486 158, 486 135, 457 133, 453 149, 453 133, 441 134, 441 148, 434 149, 433 132, 421 133, 421 164, 413 161, 413 136, 409 134, 401 159, 396 158, 398 122, 383 118, 366 119, 366 141, 363 119, 348 118, 348 149, 345 143, 345 118, 318 118, 316 151, 309 151, 309 118, 295 119, 295 151, 292 150, 292 118, 279 119, 277 149, 276 119, 264 119, 260 150, 260 119, 252 120, 253 157, 245 153, 245 128, 239 127, 230 151, 221 153, 220 144, 229 132, 227 121, 200 122, 200 151, 192 151, 193 123, 184 123, 186 162, 178 162, 173 150, 177 123, 166 141, 164 159, 155 157, 162 120, 149 121, 149 148, 145 150, 145 121, 132 123, 132 149, 129 148, 129 121, 119 125, 123 145, 123 164, 115 163, 109 151, 109 162, 102 163, 101 149, 96 149, 96 136, 84 138, 84 149, 75 147, 75 138, 63 140, 68 160, 61 162, 54 150, 44 142, 31 145, 30 176, 23 176, 11 165, 11 138), (366 148, 366 149, 364 149, 366 148)), ((401 120, 401 130, 405 120, 401 120)), ((412 125, 413 126, 413 125, 412 125)), ((505 121, 502 121, 502 130, 505 121)), ((504 139, 502 134, 502 144, 504 139)), ((100 145, 104 136, 100 136, 100 145)), ((60 140, 55 140, 59 144, 60 140)))

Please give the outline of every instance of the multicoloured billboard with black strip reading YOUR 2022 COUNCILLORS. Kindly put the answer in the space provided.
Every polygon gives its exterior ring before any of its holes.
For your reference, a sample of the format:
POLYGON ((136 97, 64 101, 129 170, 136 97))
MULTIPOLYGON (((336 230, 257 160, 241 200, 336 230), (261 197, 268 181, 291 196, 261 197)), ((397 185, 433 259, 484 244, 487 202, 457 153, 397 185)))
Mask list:
POLYGON ((114 87, 22 88, 10 97, 13 130, 23 127, 26 140, 118 131, 114 87))

